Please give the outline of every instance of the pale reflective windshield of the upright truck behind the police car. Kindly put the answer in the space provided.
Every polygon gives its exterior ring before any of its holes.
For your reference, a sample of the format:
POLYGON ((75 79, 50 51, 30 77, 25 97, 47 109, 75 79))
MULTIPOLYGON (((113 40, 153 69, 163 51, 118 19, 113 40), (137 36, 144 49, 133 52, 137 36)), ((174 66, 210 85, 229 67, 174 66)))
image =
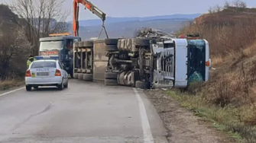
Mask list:
POLYGON ((64 40, 41 41, 40 51, 60 50, 64 46, 64 40))

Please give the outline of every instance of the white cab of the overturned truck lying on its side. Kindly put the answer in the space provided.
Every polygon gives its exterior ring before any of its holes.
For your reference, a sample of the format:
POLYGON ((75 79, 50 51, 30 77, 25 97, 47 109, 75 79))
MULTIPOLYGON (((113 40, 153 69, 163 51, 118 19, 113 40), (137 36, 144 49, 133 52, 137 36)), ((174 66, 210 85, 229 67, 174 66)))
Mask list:
POLYGON ((209 43, 206 40, 164 38, 152 45, 156 58, 153 87, 187 87, 208 81, 209 43))

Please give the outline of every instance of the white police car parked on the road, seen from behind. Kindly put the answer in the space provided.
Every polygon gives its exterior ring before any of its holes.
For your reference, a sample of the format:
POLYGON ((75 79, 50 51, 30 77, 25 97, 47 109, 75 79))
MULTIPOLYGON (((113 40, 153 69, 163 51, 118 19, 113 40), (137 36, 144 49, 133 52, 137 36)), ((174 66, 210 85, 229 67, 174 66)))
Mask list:
POLYGON ((58 60, 39 59, 26 71, 25 84, 27 91, 40 86, 56 86, 63 90, 68 87, 68 74, 58 60))

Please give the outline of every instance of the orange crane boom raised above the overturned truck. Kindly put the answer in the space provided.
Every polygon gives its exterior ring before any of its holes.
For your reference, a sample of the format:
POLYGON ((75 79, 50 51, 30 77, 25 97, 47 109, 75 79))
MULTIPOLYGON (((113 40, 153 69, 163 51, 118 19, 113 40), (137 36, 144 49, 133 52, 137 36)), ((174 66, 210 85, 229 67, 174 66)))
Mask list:
MULTIPOLYGON (((79 35, 79 4, 82 4, 85 8, 91 11, 92 14, 96 14, 100 19, 102 19, 102 28, 105 30, 106 14, 103 11, 97 8, 96 5, 93 5, 92 2, 89 2, 87 0, 74 0, 73 1, 73 33, 75 37, 78 37, 79 35)), ((100 32, 100 34, 101 33, 102 31, 100 32)), ((105 34, 107 38, 109 38, 109 35, 106 30, 105 30, 105 34)))

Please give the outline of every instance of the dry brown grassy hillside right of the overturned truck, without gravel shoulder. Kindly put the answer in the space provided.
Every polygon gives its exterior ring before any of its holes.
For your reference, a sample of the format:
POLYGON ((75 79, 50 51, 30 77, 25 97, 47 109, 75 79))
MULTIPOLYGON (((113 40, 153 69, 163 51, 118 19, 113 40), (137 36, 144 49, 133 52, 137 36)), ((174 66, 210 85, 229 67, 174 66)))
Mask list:
POLYGON ((190 24, 180 30, 181 34, 200 33, 209 41, 216 70, 211 71, 208 82, 190 85, 185 93, 171 95, 196 115, 210 119, 241 141, 252 143, 256 141, 256 19, 245 13, 239 19, 240 16, 204 14, 207 19, 199 17, 204 24, 190 24), (233 17, 236 22, 229 24, 233 17))

